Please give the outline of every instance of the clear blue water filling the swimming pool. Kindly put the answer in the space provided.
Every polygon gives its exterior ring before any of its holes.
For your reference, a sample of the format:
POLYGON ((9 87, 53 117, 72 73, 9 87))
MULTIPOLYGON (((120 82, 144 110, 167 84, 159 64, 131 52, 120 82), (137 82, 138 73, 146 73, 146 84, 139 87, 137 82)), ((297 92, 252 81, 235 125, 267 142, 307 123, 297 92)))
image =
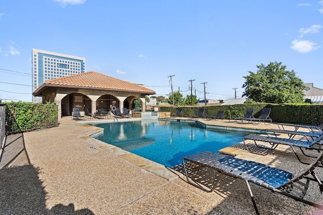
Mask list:
MULTIPOLYGON (((141 120, 92 124, 104 128, 98 139, 167 167, 199 152, 218 150, 242 141, 247 132, 205 129, 194 123, 141 120)), ((250 133, 250 132, 249 132, 250 133)))

